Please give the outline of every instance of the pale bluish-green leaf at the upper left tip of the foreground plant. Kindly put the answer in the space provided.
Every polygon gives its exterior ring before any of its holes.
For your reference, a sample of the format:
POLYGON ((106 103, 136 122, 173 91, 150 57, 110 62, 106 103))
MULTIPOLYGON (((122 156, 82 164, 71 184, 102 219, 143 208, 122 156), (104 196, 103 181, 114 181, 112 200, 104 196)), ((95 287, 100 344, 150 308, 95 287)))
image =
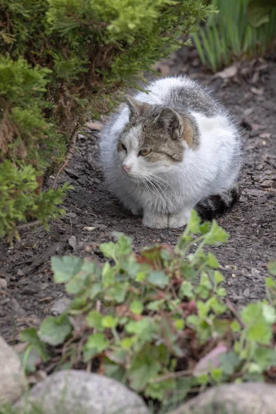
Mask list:
POLYGON ((51 267, 56 283, 65 283, 81 270, 83 260, 80 257, 63 256, 52 257, 51 267))

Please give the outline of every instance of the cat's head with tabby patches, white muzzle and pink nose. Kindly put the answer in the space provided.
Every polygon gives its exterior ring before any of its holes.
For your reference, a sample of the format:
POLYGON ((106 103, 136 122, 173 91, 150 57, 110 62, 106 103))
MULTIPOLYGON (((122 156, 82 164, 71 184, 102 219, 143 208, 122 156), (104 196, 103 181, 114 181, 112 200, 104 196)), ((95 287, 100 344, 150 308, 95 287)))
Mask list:
POLYGON ((121 168, 131 179, 167 172, 183 161, 186 148, 195 148, 195 125, 188 115, 132 97, 127 104, 129 121, 119 136, 117 151, 121 168))

